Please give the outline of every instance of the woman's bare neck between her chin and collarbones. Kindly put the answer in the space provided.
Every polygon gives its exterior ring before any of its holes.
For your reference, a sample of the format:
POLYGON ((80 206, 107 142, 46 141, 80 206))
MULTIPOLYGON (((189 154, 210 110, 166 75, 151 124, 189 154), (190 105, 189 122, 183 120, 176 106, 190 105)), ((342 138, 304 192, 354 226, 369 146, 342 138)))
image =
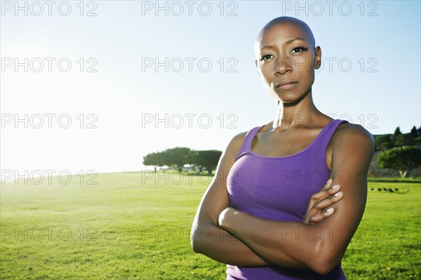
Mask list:
MULTIPOLYGON (((273 128, 287 130, 294 127, 309 127, 312 120, 318 115, 319 121, 325 116, 316 108, 310 92, 302 100, 297 102, 283 103, 276 105, 276 116, 273 121, 273 128)), ((319 121, 314 121, 319 123, 319 121)))

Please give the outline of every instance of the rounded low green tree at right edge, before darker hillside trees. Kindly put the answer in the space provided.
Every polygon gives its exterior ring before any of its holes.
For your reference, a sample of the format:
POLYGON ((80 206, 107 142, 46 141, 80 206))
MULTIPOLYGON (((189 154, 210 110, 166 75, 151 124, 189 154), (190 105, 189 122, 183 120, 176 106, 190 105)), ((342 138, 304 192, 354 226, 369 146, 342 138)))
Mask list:
POLYGON ((405 178, 409 171, 421 166, 421 147, 404 146, 389 149, 377 157, 381 168, 399 171, 405 178))

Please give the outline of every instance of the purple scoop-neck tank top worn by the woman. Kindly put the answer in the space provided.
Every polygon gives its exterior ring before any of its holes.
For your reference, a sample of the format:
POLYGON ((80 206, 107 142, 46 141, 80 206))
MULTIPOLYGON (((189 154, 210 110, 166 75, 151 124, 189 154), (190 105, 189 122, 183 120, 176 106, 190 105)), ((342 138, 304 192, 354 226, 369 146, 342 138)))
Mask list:
MULTIPOLYGON (((255 217, 301 222, 310 196, 326 184, 330 171, 326 166, 326 148, 336 128, 345 120, 330 121, 313 142, 291 156, 260 156, 251 151, 251 143, 260 128, 246 133, 227 178, 231 206, 255 217)), ((227 279, 291 280, 346 279, 337 265, 326 275, 311 270, 284 267, 236 267, 227 265, 227 279)))

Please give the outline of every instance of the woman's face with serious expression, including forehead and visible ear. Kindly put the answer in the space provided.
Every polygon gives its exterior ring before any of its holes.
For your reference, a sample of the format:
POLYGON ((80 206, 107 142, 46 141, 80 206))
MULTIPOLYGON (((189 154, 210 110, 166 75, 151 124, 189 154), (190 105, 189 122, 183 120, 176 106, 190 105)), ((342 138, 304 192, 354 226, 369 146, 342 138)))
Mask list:
POLYGON ((256 67, 269 94, 285 105, 311 91, 321 49, 312 34, 295 22, 278 22, 264 31, 255 46, 256 67))

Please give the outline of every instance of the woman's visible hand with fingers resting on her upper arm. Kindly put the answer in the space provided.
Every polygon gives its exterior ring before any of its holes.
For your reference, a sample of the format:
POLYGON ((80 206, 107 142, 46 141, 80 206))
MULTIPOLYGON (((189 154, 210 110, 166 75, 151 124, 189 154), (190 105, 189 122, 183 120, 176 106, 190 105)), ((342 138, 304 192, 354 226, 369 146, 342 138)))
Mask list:
POLYGON ((326 182, 326 185, 321 188, 320 192, 312 195, 307 213, 305 213, 305 217, 302 219, 302 222, 306 225, 314 225, 316 222, 321 222, 321 220, 332 215, 335 211, 335 209, 332 207, 329 208, 329 206, 340 201, 343 193, 339 192, 340 185, 333 187, 330 187, 330 185, 332 185, 332 179, 326 182))

